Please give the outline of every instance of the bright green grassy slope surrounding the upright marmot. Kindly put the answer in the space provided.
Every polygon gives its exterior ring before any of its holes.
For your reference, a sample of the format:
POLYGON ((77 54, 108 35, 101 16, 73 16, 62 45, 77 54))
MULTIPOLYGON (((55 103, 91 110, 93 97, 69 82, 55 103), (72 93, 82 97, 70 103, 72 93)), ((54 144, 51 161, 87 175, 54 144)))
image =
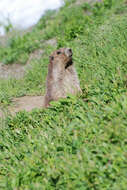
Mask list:
MULTIPOLYGON (((48 21, 42 36, 73 49, 83 95, 0 121, 1 189, 126 190, 127 14, 123 1, 110 2, 66 5, 48 21), (83 14, 86 9, 92 15, 83 14)), ((41 36, 42 23, 30 35, 41 36)), ((3 105, 14 96, 44 93, 53 49, 46 47, 22 80, 0 81, 3 105)))

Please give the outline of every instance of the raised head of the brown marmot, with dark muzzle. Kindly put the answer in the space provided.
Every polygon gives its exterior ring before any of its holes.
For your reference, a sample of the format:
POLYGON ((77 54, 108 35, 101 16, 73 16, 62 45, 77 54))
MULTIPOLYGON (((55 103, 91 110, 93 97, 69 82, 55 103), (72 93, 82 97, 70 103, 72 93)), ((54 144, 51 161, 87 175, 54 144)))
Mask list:
POLYGON ((60 48, 50 56, 50 63, 61 64, 66 69, 72 62, 72 50, 70 48, 60 48))

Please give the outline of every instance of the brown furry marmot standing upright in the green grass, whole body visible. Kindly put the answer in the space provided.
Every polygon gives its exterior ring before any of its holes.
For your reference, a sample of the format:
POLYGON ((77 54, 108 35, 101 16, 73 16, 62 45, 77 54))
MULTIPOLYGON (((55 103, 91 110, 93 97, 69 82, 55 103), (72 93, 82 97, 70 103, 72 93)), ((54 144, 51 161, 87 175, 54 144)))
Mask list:
POLYGON ((50 56, 46 80, 45 107, 52 100, 65 98, 67 94, 81 92, 80 83, 72 61, 72 50, 60 48, 50 56))

